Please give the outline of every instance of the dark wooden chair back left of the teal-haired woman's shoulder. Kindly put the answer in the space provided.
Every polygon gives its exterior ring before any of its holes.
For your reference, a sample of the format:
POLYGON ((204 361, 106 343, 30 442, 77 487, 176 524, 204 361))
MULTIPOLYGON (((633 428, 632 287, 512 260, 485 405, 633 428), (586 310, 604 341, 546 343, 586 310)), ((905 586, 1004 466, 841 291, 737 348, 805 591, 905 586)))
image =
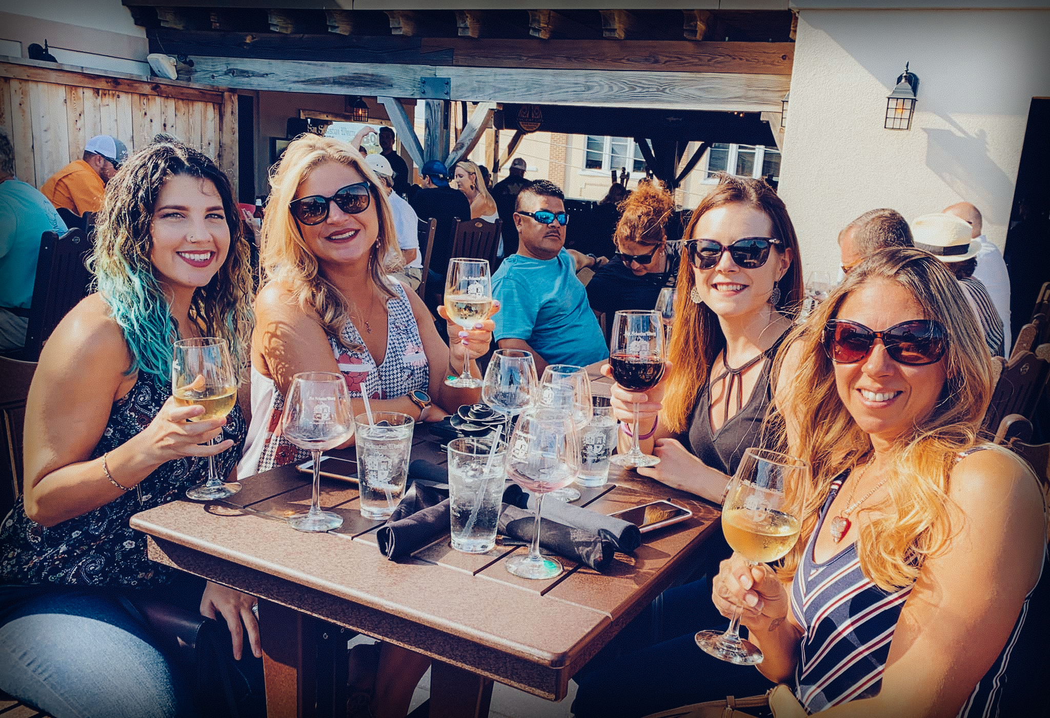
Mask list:
POLYGON ((84 262, 90 251, 84 230, 69 230, 61 237, 55 232, 44 232, 33 286, 29 326, 21 356, 23 361, 36 361, 40 357, 40 350, 62 317, 87 296, 91 274, 84 262))

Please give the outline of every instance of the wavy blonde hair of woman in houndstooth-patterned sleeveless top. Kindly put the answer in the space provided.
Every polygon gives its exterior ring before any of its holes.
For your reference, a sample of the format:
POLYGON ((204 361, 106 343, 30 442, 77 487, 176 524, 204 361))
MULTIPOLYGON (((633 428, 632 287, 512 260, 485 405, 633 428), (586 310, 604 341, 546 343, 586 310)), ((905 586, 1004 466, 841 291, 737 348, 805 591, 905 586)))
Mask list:
POLYGON ((266 277, 290 287, 299 309, 315 311, 324 331, 339 337, 350 315, 350 303, 324 276, 289 209, 299 185, 327 162, 357 170, 371 185, 372 204, 379 219, 379 237, 369 254, 369 274, 387 298, 397 296, 386 278, 386 270, 394 268, 384 266, 385 257, 400 255, 393 252, 398 245, 386 194, 379 189, 379 180, 360 152, 332 138, 299 135, 281 155, 270 177, 273 191, 270 192, 262 219, 260 258, 266 277))

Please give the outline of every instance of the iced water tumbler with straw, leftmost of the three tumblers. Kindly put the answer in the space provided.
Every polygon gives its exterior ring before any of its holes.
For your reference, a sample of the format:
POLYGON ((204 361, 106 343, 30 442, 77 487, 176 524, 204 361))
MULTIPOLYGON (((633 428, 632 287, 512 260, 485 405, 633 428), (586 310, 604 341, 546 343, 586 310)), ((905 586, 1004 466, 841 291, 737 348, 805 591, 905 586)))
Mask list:
POLYGON ((404 494, 413 418, 397 411, 357 416, 357 481, 361 515, 385 521, 404 494))

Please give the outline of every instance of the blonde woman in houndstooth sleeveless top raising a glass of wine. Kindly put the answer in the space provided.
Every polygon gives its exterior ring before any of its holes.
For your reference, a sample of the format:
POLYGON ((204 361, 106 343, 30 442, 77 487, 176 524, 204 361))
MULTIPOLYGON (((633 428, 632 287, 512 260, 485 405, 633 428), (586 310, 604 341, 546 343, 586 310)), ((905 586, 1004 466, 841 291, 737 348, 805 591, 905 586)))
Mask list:
MULTIPOLYGON (((281 155, 262 220, 267 282, 255 301, 252 422, 242 478, 309 458, 278 431, 299 372, 341 373, 355 415, 364 411, 364 392, 373 410, 418 421, 439 421, 481 397, 481 389, 443 380, 459 375, 466 357, 480 376, 474 359, 488 351, 492 320, 469 332, 449 322, 456 340, 450 347, 442 341, 423 301, 390 276, 400 268, 383 266, 397 255, 397 240, 377 182, 353 147, 331 138, 304 134, 281 155)), ((447 318, 443 307, 439 312, 447 318)), ((361 675, 375 669, 369 662, 382 669, 374 688, 352 676, 362 689, 357 710, 375 718, 404 716, 429 659, 390 645, 382 655, 371 647, 356 654, 368 655, 363 661, 354 656, 355 664, 364 663, 361 675)))

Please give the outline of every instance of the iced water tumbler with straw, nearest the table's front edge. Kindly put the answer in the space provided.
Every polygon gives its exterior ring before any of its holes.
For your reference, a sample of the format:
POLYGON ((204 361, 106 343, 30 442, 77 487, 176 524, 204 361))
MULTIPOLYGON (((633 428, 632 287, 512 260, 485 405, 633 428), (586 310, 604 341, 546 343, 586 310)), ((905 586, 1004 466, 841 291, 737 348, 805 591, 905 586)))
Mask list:
POLYGON ((452 500, 453 548, 485 553, 496 546, 503 504, 506 443, 491 453, 492 437, 448 442, 448 497, 452 500))

